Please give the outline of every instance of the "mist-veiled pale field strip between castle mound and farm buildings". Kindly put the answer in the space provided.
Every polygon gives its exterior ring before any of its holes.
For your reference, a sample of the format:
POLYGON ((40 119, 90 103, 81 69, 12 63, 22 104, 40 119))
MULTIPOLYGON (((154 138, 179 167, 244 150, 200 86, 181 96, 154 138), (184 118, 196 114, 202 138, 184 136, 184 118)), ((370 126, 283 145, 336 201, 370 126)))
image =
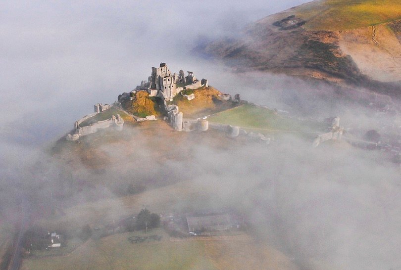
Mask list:
POLYGON ((98 226, 113 219, 118 220, 121 216, 136 215, 143 205, 149 205, 150 211, 154 213, 181 211, 180 205, 187 205, 186 211, 209 207, 211 205, 205 204, 205 201, 209 201, 210 196, 210 190, 206 186, 199 190, 193 187, 191 181, 178 182, 135 195, 108 198, 66 208, 64 215, 39 221, 36 225, 53 230, 61 228, 74 235, 86 224, 98 226))

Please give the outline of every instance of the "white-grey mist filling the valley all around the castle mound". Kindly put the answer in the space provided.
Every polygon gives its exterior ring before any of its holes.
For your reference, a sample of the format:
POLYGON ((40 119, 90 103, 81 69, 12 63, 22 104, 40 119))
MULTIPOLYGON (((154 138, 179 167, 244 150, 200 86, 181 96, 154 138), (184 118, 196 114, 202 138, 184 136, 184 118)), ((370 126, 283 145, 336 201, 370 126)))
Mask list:
MULTIPOLYGON (((291 133, 270 135, 270 144, 217 131, 179 133, 165 123, 65 140, 95 103, 113 103, 160 62, 294 119, 338 116, 345 138, 364 140, 369 130, 399 138, 397 99, 391 108, 355 102, 350 96, 364 89, 235 72, 193 50, 302 2, 2 2, 0 250, 31 227, 63 231, 74 243, 83 226, 95 232, 144 207, 163 215, 235 209, 249 239, 206 246, 207 256, 191 255, 184 269, 212 269, 205 261, 215 269, 246 268, 241 261, 255 261, 253 269, 401 269, 400 166, 392 152, 347 139, 313 148, 291 133), (257 252, 249 255, 238 243, 257 252), (238 258, 227 265, 218 256, 238 258)), ((79 242, 69 256, 81 254, 75 264, 68 256, 57 264, 57 257, 25 254, 21 268, 38 269, 43 260, 56 269, 127 269, 112 251, 101 259, 106 265, 82 263, 106 252, 100 241, 79 242), (92 245, 99 249, 85 252, 92 245)), ((184 253, 178 244, 170 248, 184 253)), ((174 258, 157 254, 158 267, 171 268, 174 258)))

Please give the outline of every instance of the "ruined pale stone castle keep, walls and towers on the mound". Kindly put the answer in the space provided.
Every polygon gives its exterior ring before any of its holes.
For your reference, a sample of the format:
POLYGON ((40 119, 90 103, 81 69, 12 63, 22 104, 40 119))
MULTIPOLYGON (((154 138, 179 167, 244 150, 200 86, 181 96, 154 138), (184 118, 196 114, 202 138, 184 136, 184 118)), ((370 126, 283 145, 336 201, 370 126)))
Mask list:
MULTIPOLYGON (((177 105, 167 105, 167 101, 172 101, 173 98, 179 94, 183 90, 195 90, 201 87, 208 87, 208 81, 206 79, 198 80, 194 73, 188 71, 188 75, 185 76, 184 71, 180 70, 179 74, 172 74, 168 69, 165 63, 160 63, 158 68, 152 67, 151 76, 148 78, 148 81, 142 81, 141 85, 137 86, 135 90, 132 90, 129 93, 122 93, 118 96, 118 101, 114 103, 114 105, 108 104, 95 104, 94 110, 95 112, 83 117, 82 119, 75 122, 74 131, 71 134, 66 136, 67 140, 77 140, 81 136, 89 135, 98 132, 101 129, 106 128, 114 128, 116 130, 122 130, 124 125, 124 120, 119 114, 112 115, 111 118, 103 121, 93 121, 92 123, 85 123, 87 120, 91 120, 97 114, 104 112, 111 107, 118 108, 120 111, 124 111, 121 108, 121 102, 125 100, 133 100, 133 96, 136 92, 139 91, 147 91, 150 97, 158 97, 161 99, 162 104, 164 104, 164 109, 167 112, 167 116, 164 117, 167 120, 172 128, 176 131, 206 131, 209 128, 228 132, 230 136, 238 136, 238 135, 248 135, 253 138, 260 139, 267 143, 270 142, 270 138, 266 138, 262 134, 254 134, 252 132, 247 132, 240 127, 234 127, 230 125, 209 123, 205 119, 185 119, 183 117, 183 113, 179 111, 177 105), (85 125, 81 126, 81 124, 85 123, 85 125)), ((195 97, 194 93, 190 95, 183 95, 188 100, 192 100, 195 97)), ((221 100, 232 101, 232 102, 241 102, 239 94, 235 95, 235 98, 232 98, 230 94, 220 94, 219 97, 221 100)), ((246 101, 242 101, 246 102, 246 101)), ((246 102, 248 103, 248 102, 246 102)), ((125 111, 124 111, 125 112, 125 111)), ((129 114, 128 112, 126 112, 129 114)), ((139 118, 132 115, 136 121, 153 121, 157 120, 154 115, 148 115, 145 118, 139 118)), ((344 132, 344 128, 340 127, 340 118, 335 117, 331 120, 330 132, 318 135, 316 139, 313 141, 313 146, 318 146, 321 142, 330 139, 341 139, 342 134, 344 132)))

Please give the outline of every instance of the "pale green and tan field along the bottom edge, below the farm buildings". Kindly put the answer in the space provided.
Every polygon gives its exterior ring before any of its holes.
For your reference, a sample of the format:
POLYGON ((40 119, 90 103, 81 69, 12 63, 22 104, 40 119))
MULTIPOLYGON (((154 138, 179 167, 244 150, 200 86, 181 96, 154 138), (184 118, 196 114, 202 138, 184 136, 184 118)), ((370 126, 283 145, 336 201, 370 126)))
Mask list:
MULTIPOLYGON (((191 239, 191 238, 190 238, 191 239)), ((24 260, 22 270, 43 269, 297 269, 282 253, 252 240, 170 241, 162 229, 90 240, 68 256, 24 260), (131 242, 135 236, 161 240, 131 242), (131 238, 130 238, 131 237, 131 238)))

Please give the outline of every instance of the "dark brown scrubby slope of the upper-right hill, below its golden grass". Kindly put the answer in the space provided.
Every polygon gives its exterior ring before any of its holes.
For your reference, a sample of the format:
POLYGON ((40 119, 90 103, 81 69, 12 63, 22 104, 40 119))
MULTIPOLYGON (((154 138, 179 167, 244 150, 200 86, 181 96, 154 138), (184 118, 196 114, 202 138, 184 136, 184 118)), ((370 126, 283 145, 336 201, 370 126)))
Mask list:
POLYGON ((273 25, 292 14, 288 11, 266 17, 246 29, 239 39, 211 43, 204 52, 239 71, 284 72, 336 82, 361 76, 351 57, 341 50, 338 32, 273 25))

